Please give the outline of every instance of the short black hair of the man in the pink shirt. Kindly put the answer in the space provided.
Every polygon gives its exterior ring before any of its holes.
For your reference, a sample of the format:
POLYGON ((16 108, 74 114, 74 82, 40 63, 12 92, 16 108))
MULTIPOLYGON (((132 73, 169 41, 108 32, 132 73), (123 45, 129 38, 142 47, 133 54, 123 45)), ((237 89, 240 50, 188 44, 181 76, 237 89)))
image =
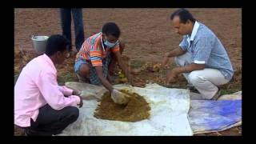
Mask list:
POLYGON ((60 34, 51 35, 46 42, 45 54, 51 56, 58 51, 66 50, 66 47, 70 46, 70 41, 60 34))

